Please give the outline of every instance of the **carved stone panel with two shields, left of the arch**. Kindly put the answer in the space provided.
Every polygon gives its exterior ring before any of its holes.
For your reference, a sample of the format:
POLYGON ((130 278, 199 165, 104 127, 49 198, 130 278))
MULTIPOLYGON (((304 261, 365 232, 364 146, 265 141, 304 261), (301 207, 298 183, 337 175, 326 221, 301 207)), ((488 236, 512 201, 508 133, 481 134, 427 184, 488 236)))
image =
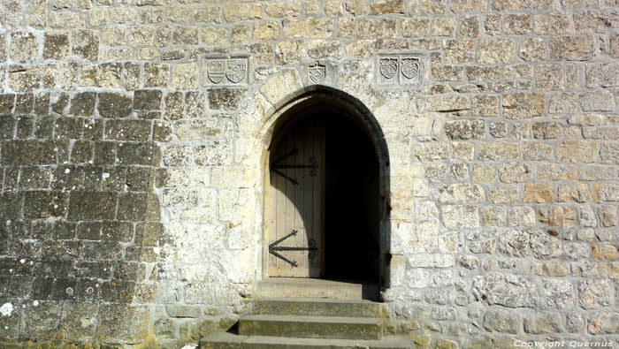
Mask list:
POLYGON ((248 58, 206 58, 205 85, 240 85, 248 82, 248 58))

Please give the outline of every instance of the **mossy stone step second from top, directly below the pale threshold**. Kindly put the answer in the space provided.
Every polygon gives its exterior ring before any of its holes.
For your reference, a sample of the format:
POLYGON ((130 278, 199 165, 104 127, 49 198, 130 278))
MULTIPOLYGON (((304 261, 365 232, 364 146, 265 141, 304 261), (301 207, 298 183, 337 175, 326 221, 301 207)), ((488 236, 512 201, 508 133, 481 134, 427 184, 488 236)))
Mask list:
POLYGON ((380 317, 380 307, 370 300, 267 298, 256 300, 253 310, 261 315, 380 317))

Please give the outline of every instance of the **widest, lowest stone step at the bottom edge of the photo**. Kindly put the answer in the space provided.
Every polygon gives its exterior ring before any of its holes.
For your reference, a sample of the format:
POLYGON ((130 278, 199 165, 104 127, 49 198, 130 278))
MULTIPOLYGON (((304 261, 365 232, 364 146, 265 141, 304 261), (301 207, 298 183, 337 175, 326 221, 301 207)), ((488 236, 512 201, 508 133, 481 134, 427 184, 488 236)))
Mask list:
POLYGON ((406 337, 386 337, 379 340, 283 338, 240 336, 228 332, 212 333, 200 340, 200 349, 410 349, 415 345, 406 337))

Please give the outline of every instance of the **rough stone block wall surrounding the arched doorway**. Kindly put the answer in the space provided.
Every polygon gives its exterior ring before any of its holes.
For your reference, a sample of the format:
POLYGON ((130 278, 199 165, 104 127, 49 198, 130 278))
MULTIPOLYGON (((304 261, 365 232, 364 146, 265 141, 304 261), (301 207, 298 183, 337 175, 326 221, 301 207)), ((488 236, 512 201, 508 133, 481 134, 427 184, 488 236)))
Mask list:
POLYGON ((0 346, 233 323, 314 85, 385 135, 390 331, 619 346, 617 0, 1 0, 0 346))

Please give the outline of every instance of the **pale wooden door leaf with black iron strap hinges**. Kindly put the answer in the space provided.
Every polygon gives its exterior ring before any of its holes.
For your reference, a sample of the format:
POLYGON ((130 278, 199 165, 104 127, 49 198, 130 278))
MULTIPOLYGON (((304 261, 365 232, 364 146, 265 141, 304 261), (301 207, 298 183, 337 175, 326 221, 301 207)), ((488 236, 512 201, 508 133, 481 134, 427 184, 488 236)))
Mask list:
POLYGON ((269 163, 269 277, 322 277, 325 123, 305 118, 282 131, 269 163))

